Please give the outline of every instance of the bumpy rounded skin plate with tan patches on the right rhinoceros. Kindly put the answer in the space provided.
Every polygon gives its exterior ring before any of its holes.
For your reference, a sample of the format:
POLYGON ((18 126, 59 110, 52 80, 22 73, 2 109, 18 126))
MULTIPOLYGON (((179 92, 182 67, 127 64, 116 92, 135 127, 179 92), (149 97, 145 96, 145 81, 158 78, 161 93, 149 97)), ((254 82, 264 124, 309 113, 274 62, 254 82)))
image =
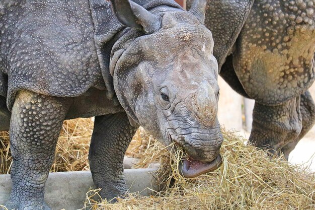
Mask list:
POLYGON ((255 1, 233 52, 247 94, 266 105, 303 93, 314 81, 315 1, 255 1))

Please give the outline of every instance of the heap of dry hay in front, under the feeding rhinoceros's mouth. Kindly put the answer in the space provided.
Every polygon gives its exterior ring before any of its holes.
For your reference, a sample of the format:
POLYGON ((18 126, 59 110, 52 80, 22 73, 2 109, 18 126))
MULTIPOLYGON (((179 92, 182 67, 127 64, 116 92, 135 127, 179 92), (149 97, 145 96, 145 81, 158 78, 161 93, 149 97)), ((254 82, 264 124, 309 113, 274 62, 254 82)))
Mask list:
MULTIPOLYGON (((262 150, 246 146, 245 140, 223 132, 223 164, 219 170, 193 179, 178 175, 180 152, 170 152, 149 141, 141 166, 160 160, 157 182, 162 192, 150 197, 129 194, 115 204, 96 202, 97 191, 88 193, 91 209, 315 209, 315 174, 288 165, 283 157, 270 159, 262 150)), ((147 134, 142 134, 148 137, 147 134)), ((142 151, 143 152, 143 151, 142 151)))

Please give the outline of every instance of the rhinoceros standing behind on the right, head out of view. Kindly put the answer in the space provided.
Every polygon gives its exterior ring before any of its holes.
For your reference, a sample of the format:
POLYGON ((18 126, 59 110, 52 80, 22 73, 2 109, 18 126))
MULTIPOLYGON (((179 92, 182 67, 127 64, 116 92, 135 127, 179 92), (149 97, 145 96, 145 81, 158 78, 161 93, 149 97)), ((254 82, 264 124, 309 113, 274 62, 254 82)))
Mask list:
POLYGON ((250 141, 288 159, 315 120, 307 91, 315 71, 315 0, 213 0, 208 7, 219 74, 255 99, 250 141))

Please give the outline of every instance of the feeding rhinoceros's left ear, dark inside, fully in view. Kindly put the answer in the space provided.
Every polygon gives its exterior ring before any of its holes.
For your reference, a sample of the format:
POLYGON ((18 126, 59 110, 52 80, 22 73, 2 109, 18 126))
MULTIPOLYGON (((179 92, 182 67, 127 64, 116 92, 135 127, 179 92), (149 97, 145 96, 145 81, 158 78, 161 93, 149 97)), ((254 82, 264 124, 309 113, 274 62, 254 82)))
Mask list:
POLYGON ((118 20, 129 27, 143 30, 146 34, 161 28, 161 19, 140 5, 128 0, 111 0, 118 20))

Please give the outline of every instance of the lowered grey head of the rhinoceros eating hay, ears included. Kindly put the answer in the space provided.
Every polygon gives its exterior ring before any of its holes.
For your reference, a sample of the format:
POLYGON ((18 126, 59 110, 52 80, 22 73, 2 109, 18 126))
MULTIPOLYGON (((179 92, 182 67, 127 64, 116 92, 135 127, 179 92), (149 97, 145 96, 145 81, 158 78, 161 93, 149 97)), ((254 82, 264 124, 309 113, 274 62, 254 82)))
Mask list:
POLYGON ((203 25, 206 1, 190 11, 152 14, 128 1, 112 1, 122 32, 112 49, 111 74, 127 114, 165 145, 189 155, 185 177, 220 164, 218 66, 211 32, 203 25))

